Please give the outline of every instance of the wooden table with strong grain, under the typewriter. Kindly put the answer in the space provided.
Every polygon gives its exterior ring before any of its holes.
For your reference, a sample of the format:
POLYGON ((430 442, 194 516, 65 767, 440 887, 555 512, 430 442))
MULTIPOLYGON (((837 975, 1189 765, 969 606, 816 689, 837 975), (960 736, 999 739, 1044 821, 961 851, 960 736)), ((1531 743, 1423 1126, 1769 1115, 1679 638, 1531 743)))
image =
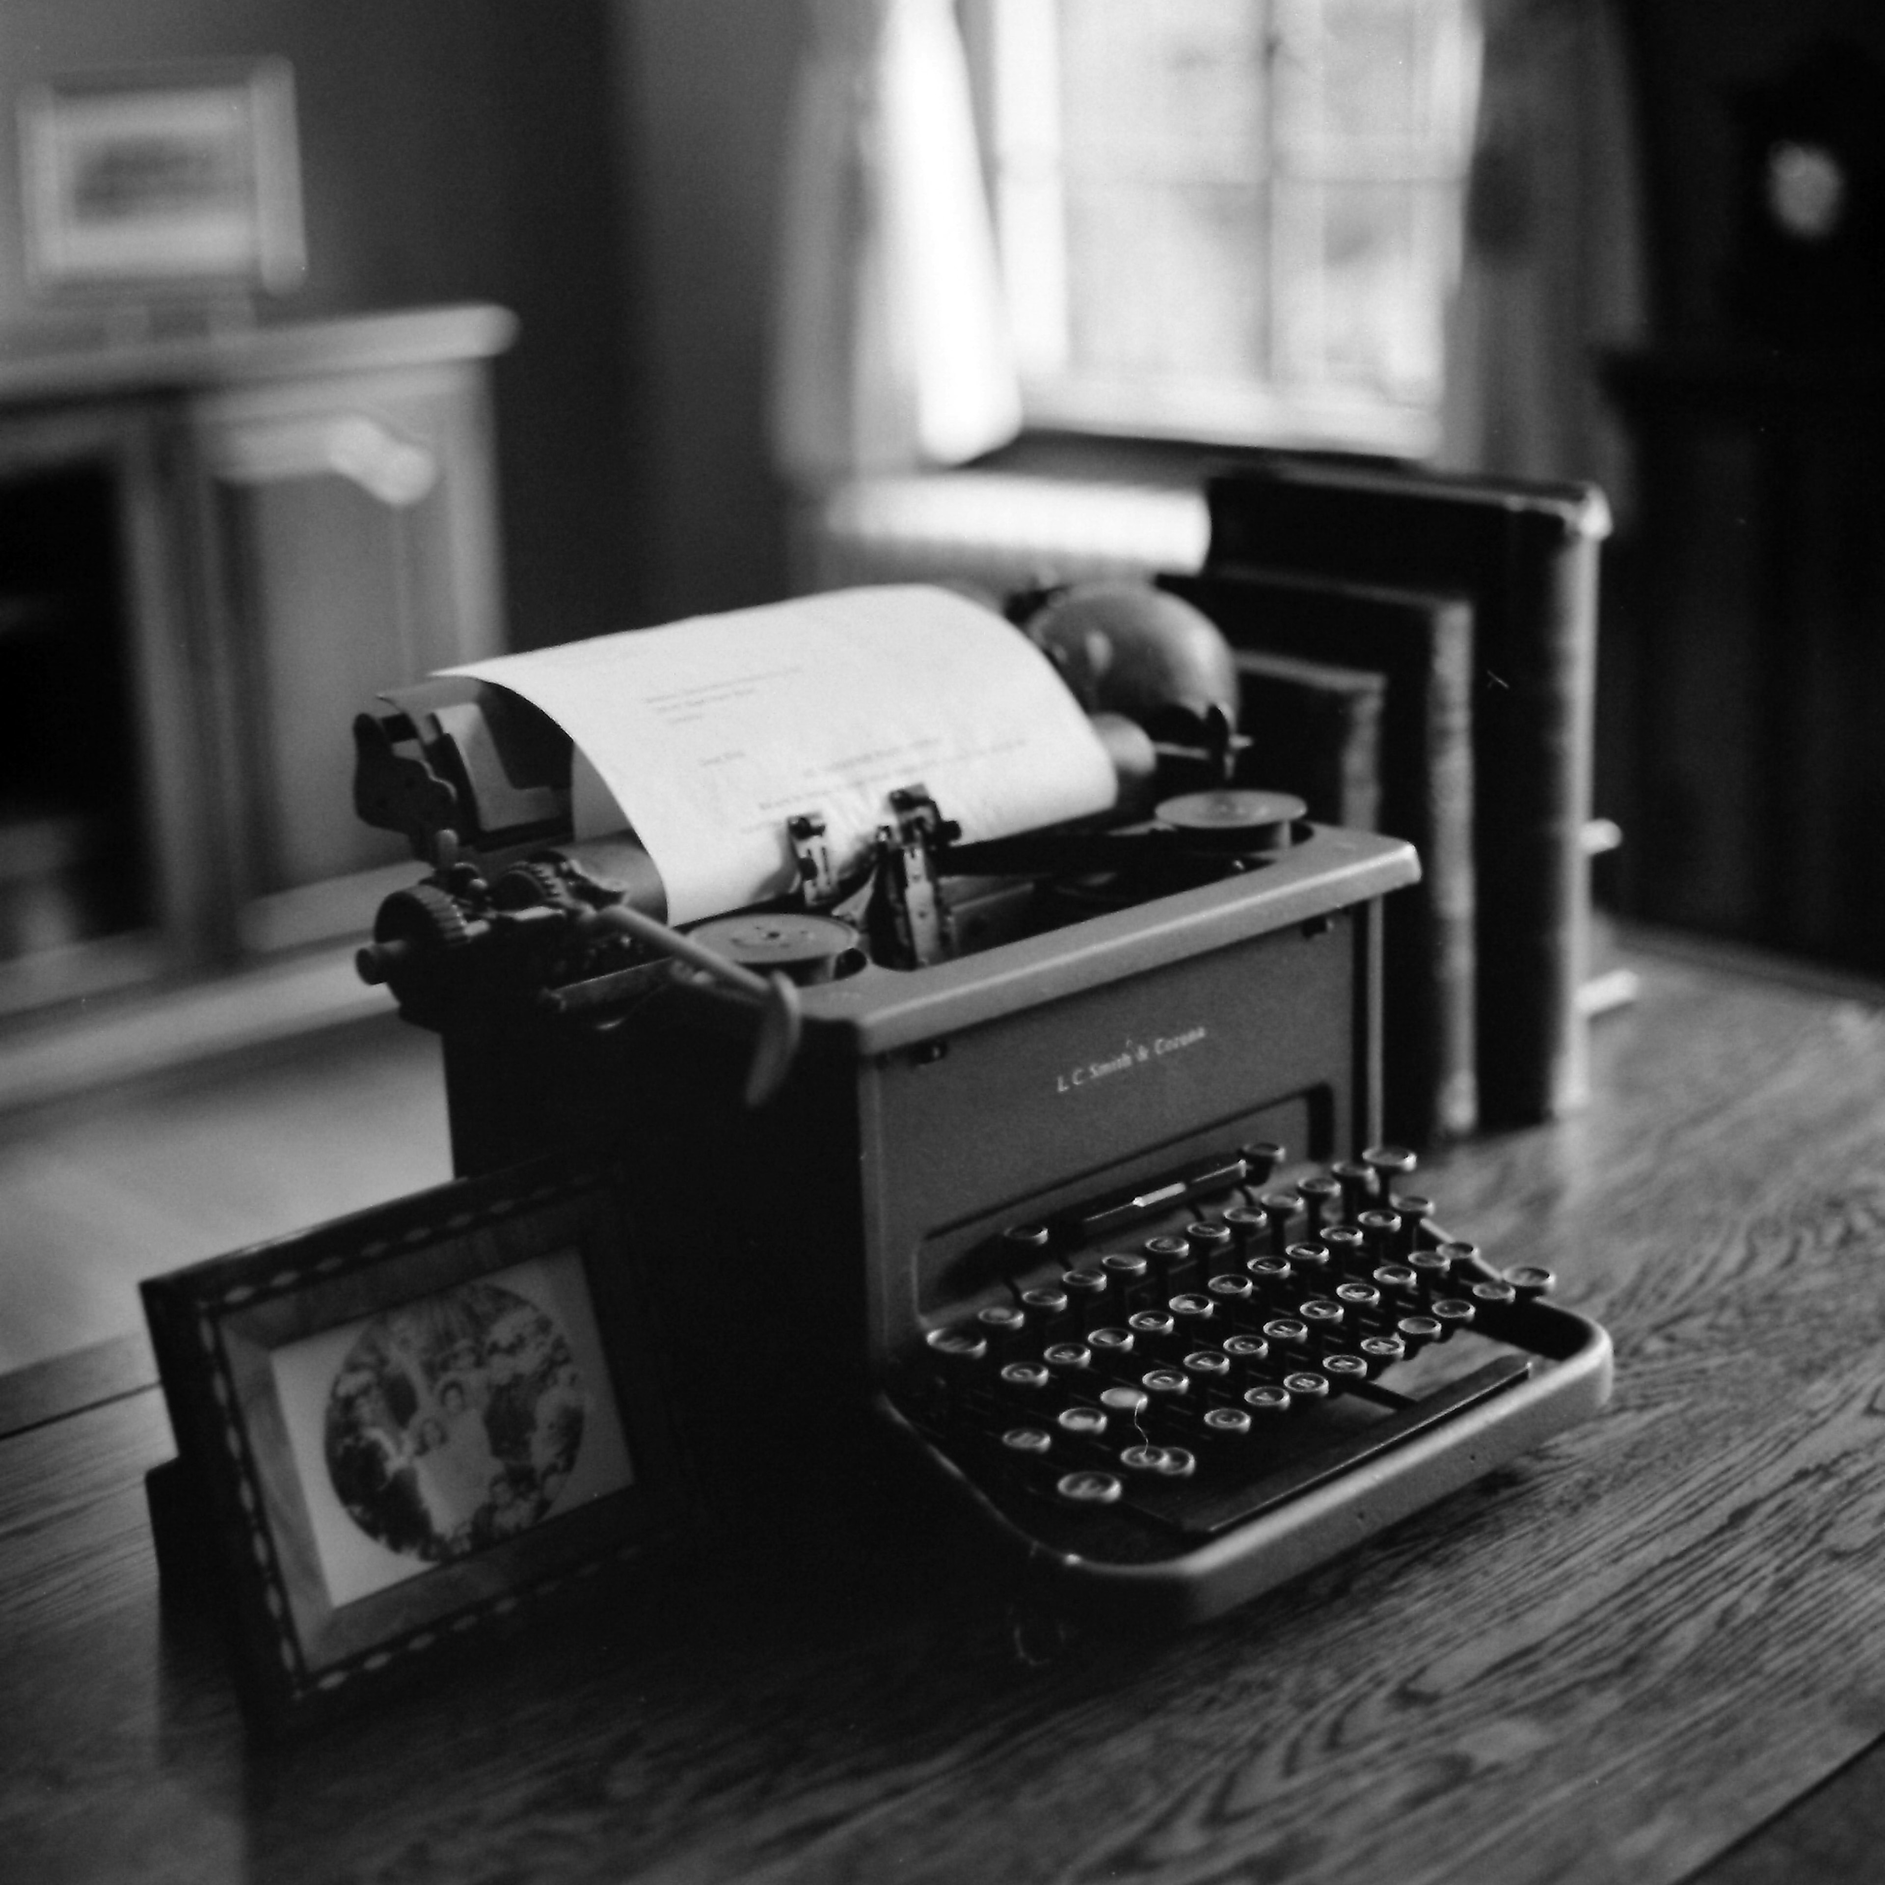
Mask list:
POLYGON ((1785 1810, 1885 1730, 1885 1012, 1642 969, 1583 1118, 1427 1167, 1610 1325, 1612 1410, 1184 1636, 1016 1640, 933 1525, 841 1529, 256 1751, 158 1602, 147 1352, 9 1378, 0 1870, 1876 1876, 1885 1757, 1785 1810))

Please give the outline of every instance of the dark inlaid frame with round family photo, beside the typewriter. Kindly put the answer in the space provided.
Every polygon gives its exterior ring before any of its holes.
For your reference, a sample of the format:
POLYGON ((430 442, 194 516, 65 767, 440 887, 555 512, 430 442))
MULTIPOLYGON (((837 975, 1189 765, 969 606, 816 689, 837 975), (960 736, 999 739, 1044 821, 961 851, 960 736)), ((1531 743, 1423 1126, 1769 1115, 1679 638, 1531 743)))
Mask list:
POLYGON ((187 1485, 153 1519, 254 1721, 475 1644, 690 1508, 607 1174, 460 1180, 143 1284, 187 1485))

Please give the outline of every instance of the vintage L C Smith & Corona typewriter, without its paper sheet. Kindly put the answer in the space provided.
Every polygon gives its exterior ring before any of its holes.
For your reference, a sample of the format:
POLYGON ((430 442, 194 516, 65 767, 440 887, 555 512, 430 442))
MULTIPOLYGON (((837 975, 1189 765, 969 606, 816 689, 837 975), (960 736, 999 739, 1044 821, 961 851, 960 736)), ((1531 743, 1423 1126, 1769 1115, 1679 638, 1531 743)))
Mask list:
POLYGON ((1110 818, 965 843, 912 779, 861 869, 807 809, 797 888, 684 931, 631 835, 571 839, 547 716, 386 696, 356 805, 430 871, 360 971, 443 1041, 460 1174, 611 1161, 709 1506, 888 1444, 1071 1606, 1184 1619, 1583 1418, 1610 1348, 1376 1144, 1410 846, 1244 779, 1227 656, 1135 665, 1182 605, 1065 601, 1110 818))

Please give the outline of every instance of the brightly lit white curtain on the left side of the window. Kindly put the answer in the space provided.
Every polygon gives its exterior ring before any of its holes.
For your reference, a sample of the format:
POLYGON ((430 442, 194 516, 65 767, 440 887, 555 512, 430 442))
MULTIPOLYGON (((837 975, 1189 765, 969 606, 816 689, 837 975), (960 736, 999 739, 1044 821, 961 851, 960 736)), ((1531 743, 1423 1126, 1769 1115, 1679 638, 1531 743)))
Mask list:
POLYGON ((1020 392, 952 0, 814 0, 782 177, 773 451, 807 486, 959 464, 1020 392))

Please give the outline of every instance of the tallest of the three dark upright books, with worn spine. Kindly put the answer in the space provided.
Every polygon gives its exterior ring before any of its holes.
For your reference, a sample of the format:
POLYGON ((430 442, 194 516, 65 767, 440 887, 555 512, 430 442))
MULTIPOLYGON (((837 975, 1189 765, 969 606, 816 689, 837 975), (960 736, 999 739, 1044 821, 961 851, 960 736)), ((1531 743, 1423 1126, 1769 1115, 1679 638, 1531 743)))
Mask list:
POLYGON ((1480 1116, 1523 1125, 1572 1110, 1587 1090, 1602 492, 1278 456, 1212 479, 1206 496, 1206 571, 1255 564, 1472 603, 1480 1116))

